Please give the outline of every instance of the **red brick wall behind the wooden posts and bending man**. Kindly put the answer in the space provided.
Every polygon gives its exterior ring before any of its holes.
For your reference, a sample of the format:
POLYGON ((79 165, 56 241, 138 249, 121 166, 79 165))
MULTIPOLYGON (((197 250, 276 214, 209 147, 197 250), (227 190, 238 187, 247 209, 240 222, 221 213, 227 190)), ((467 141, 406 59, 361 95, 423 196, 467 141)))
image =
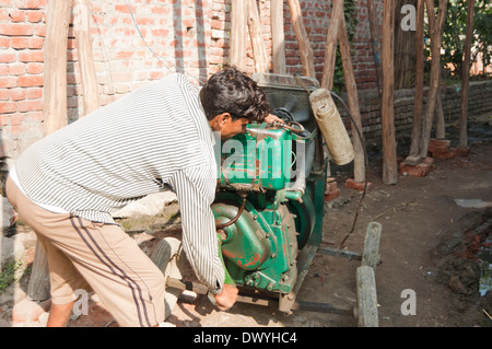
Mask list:
MULTIPOLYGON (((175 67, 185 71, 192 82, 200 84, 229 62, 231 0, 90 2, 101 105, 112 103, 130 91, 175 71, 175 67), (133 19, 138 26, 134 25, 133 19)), ((270 1, 258 0, 257 3, 267 53, 271 54, 270 1)), ((304 24, 313 47, 317 78, 320 80, 331 1, 301 0, 301 3, 304 24)), ((376 3, 380 12, 382 0, 376 0, 376 3)), ((47 0, 0 0, 0 155, 11 159, 15 159, 27 146, 43 137, 46 4, 47 0)), ((286 2, 284 20, 288 72, 295 74, 300 73, 302 68, 286 2)), ((352 46, 355 80, 361 93, 365 131, 376 131, 377 135, 377 128, 380 128, 379 112, 367 102, 375 92, 376 75, 366 0, 359 0, 358 21, 352 46)), ((246 45, 247 70, 253 72, 249 40, 246 45)), ((71 28, 67 53, 69 121, 78 119, 83 113, 80 107, 79 65, 74 47, 71 28)), ((405 92, 401 93, 406 95, 405 92)), ((403 98, 411 96, 406 95, 403 98)), ((399 102, 396 105, 398 108, 399 102)), ((490 109, 492 108, 489 107, 490 109)), ((399 112, 396 114, 400 115, 399 112)), ((408 128, 408 125, 401 127, 408 128)))

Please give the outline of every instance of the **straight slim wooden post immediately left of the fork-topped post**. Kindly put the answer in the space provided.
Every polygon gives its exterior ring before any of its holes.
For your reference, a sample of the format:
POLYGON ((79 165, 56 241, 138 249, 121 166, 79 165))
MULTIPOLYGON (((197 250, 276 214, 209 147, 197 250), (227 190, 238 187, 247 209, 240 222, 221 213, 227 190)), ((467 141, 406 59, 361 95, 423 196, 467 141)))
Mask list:
POLYGON ((413 124, 409 156, 406 159, 411 165, 421 162, 420 141, 422 138, 422 105, 424 79, 424 0, 417 1, 417 33, 415 33, 415 100, 413 104, 413 124))

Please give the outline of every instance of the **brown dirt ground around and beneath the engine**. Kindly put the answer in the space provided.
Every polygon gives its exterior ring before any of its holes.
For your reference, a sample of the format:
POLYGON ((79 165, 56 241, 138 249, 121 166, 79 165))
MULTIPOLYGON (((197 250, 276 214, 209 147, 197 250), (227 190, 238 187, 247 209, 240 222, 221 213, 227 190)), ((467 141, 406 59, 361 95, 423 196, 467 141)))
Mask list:
MULTIPOLYGON (((385 185, 380 172, 380 158, 373 153, 367 179, 374 188, 365 196, 355 231, 345 242, 349 251, 362 253, 367 224, 376 221, 383 225, 382 264, 375 271, 379 326, 491 327, 492 292, 479 292, 482 260, 477 257, 487 239, 490 244, 491 226, 485 232, 477 228, 492 218, 492 142, 473 141, 466 156, 435 159, 433 171, 425 177, 399 174, 396 185, 385 185), (464 202, 479 207, 466 207, 464 202), (405 290, 414 292, 414 315, 401 311, 407 301, 405 290)), ((350 175, 350 167, 331 168, 341 195, 325 205, 321 247, 337 247, 352 226, 361 194, 344 187, 350 175)), ((148 253, 160 239, 179 234, 178 206, 174 202, 167 209, 163 217, 124 222, 148 253), (154 231, 138 232, 143 225, 154 231)), ((355 306, 359 265, 356 260, 317 254, 297 299, 355 306)), ((109 314, 91 304, 90 314, 72 317, 69 326, 117 326, 109 314)), ((354 316, 306 311, 285 315, 273 307, 245 303, 219 312, 207 296, 179 300, 168 321, 177 327, 358 325, 354 316)))

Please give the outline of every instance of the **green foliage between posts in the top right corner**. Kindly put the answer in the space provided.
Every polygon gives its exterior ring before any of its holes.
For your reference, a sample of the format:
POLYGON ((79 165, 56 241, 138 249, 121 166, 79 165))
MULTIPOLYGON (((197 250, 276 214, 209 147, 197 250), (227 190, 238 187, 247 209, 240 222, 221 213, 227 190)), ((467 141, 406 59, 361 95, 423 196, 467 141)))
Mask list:
MULTIPOLYGON (((484 66, 491 63, 492 55, 492 7, 490 0, 476 0, 473 39, 470 63, 482 55, 484 66)), ((467 27, 467 0, 449 0, 444 24, 443 49, 441 57, 445 71, 452 78, 460 79, 467 27), (446 67, 450 63, 453 69, 446 67)))

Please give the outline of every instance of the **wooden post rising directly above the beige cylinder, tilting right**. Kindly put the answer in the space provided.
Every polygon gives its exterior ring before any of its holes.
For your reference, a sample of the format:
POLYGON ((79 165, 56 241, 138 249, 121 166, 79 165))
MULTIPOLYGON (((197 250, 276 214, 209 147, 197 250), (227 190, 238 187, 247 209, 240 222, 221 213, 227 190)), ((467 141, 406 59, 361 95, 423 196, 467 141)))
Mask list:
POLYGON ((340 23, 343 19, 343 0, 333 0, 331 7, 330 26, 326 36, 325 65, 323 67, 321 89, 333 89, 335 60, 337 42, 340 33, 340 23))

